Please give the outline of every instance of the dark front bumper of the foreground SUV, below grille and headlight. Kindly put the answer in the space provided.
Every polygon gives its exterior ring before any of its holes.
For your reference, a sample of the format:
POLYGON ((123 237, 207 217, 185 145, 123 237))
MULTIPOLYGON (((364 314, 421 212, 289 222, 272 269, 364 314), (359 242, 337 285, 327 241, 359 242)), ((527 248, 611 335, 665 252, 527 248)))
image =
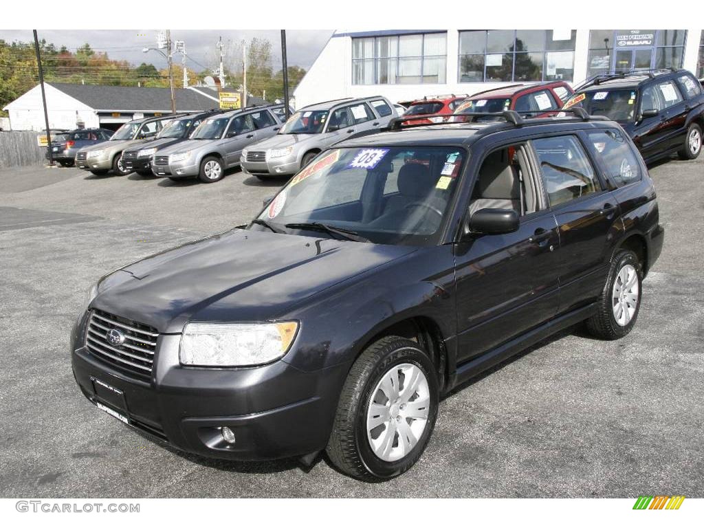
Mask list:
POLYGON ((131 427, 182 451, 231 460, 272 460, 327 445, 348 365, 305 372, 279 360, 251 368, 183 367, 180 335, 161 334, 149 382, 133 379, 72 337, 73 374, 84 396, 127 417, 131 427), (96 382, 97 380, 97 382, 96 382), (118 406, 96 384, 124 394, 118 406), (230 427, 234 444, 222 439, 230 427))

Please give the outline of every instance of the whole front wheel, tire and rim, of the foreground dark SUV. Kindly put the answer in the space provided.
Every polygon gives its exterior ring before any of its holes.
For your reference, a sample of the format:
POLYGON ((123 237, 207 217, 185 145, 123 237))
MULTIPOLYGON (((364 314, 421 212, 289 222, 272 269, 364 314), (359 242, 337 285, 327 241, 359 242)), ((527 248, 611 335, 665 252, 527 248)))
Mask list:
POLYGON ((390 336, 367 348, 346 379, 327 454, 346 474, 370 482, 406 472, 425 450, 439 388, 427 353, 390 336))

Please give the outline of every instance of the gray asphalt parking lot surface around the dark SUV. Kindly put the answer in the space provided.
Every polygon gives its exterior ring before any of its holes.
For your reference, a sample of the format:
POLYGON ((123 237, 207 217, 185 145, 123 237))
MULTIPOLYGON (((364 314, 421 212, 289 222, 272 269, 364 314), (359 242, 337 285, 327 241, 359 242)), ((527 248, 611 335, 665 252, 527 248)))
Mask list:
POLYGON ((420 462, 384 484, 325 458, 229 463, 168 451, 90 404, 68 334, 101 275, 246 222, 280 183, 0 173, 0 496, 704 496, 704 156, 651 168, 665 248, 620 341, 575 329, 441 402, 420 462))

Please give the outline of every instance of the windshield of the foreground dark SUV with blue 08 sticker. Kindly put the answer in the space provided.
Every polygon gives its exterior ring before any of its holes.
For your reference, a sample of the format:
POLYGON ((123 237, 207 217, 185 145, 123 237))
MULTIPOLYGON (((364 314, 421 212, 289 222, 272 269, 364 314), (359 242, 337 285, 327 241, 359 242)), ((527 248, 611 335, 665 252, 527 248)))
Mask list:
POLYGON ((327 151, 298 172, 258 220, 310 237, 335 238, 320 229, 287 225, 318 222, 375 244, 436 244, 465 157, 456 147, 327 151))

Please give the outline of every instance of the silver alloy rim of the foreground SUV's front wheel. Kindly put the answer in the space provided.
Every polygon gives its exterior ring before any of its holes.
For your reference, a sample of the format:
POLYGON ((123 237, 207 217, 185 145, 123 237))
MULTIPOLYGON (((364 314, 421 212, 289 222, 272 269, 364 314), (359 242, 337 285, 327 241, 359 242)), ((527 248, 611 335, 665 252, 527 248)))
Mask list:
POLYGON ((408 455, 425 431, 430 391, 425 374, 410 363, 394 365, 372 391, 367 440, 377 457, 394 462, 408 455))

